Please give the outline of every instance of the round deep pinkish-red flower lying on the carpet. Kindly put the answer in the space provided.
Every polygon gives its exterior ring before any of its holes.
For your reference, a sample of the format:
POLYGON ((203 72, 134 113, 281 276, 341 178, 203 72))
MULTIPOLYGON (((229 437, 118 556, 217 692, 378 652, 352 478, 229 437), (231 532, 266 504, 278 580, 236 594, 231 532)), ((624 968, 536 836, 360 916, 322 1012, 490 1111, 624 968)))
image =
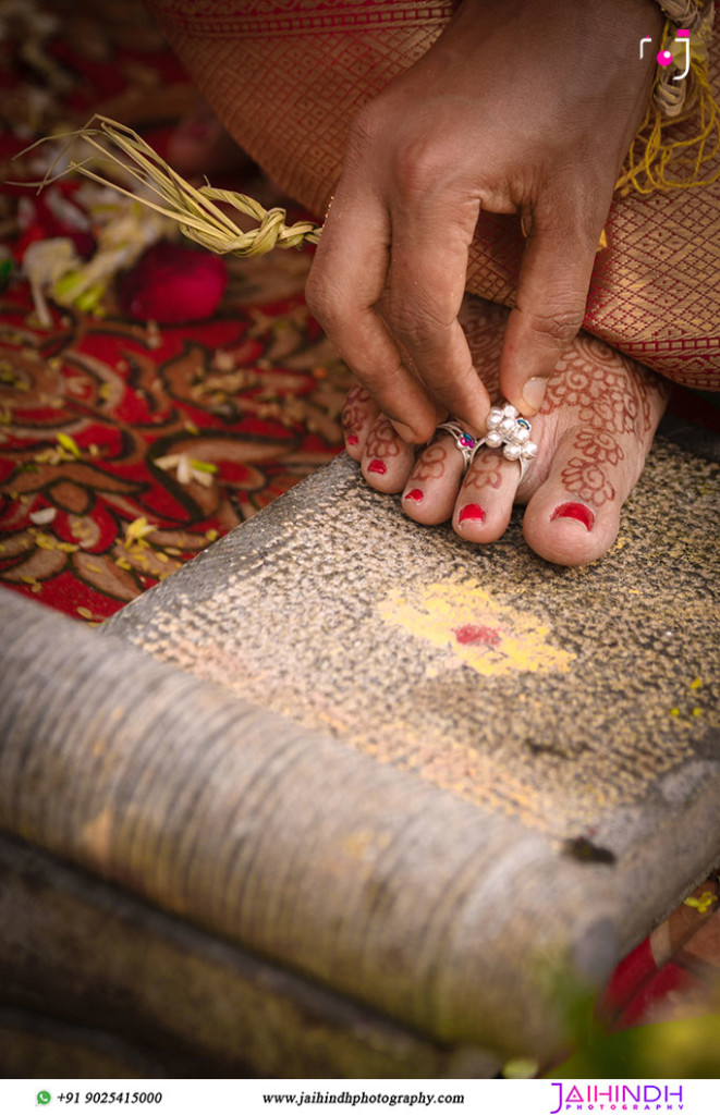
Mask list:
POLYGON ((226 283, 225 264, 217 255, 162 241, 118 277, 117 298, 132 318, 178 324, 210 318, 226 283))

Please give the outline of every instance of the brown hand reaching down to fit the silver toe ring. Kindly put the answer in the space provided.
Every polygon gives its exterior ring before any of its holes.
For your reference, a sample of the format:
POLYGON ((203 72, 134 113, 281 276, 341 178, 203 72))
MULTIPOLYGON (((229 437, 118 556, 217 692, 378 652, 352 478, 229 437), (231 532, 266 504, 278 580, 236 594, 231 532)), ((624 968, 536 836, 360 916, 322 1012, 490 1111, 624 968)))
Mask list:
POLYGON ((465 0, 356 118, 308 300, 406 442, 448 414, 485 429, 488 394, 457 320, 480 210, 523 220, 499 386, 520 413, 539 408, 583 320, 661 27, 652 0, 465 0))

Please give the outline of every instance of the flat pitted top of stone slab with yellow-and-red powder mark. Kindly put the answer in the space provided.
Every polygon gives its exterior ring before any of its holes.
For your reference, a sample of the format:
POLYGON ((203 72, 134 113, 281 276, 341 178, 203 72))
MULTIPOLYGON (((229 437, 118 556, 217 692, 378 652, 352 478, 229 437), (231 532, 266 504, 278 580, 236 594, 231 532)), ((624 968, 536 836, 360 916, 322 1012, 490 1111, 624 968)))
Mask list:
POLYGON ((519 513, 476 549, 340 458, 105 627, 558 849, 644 856, 660 914, 720 853, 718 472, 660 442, 611 553, 568 570, 519 513), (700 799, 693 849, 668 806, 700 799))

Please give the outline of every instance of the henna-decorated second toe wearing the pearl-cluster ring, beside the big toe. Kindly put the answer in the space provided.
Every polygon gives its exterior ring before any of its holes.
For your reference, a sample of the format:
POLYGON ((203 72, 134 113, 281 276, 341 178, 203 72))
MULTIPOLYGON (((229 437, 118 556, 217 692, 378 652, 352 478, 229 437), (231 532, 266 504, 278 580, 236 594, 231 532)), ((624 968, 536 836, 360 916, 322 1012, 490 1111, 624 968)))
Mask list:
POLYGON ((453 526, 469 542, 494 542, 505 533, 520 477, 516 460, 506 460, 499 449, 476 454, 459 491, 453 526))

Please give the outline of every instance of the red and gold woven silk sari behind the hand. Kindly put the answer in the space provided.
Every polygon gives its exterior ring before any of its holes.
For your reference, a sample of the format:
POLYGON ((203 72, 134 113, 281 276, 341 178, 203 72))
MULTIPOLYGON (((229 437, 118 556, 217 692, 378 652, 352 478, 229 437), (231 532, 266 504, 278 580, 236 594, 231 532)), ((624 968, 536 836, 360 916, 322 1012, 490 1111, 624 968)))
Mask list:
MULTIPOLYGON (((152 8, 237 143, 322 214, 352 117, 425 54, 455 4, 152 0, 152 8)), ((718 99, 717 57, 710 79, 718 99)), ((677 127, 682 135, 691 126, 677 127)), ((720 153, 714 158, 720 165, 720 153)), ((720 184, 616 197, 605 232, 584 328, 678 382, 720 389, 720 184)), ((517 217, 483 213, 467 289, 512 303, 522 250, 517 217)))

